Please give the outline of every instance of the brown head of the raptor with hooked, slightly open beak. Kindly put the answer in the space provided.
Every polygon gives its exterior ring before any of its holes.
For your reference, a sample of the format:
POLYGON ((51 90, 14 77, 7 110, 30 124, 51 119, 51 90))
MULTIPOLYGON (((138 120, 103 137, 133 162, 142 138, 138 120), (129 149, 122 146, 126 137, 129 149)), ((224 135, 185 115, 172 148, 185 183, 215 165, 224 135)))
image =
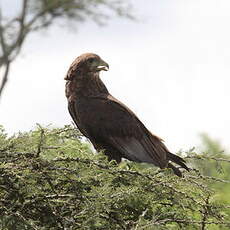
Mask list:
POLYGON ((101 70, 108 71, 109 65, 97 54, 85 53, 77 57, 71 64, 65 80, 72 80, 77 76, 88 76, 101 70))

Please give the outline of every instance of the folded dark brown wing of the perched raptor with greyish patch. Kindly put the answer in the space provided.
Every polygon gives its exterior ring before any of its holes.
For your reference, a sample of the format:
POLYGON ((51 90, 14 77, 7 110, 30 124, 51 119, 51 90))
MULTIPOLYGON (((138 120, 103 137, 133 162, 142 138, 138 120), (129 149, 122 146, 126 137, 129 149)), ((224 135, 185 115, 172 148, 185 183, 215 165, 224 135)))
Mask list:
POLYGON ((161 139, 152 135, 137 116, 125 105, 111 95, 107 97, 91 97, 91 103, 97 108, 90 120, 89 135, 92 139, 100 137, 116 148, 123 157, 137 162, 147 162, 164 168, 168 164, 167 148, 161 139), (96 114, 96 116, 95 116, 96 114))

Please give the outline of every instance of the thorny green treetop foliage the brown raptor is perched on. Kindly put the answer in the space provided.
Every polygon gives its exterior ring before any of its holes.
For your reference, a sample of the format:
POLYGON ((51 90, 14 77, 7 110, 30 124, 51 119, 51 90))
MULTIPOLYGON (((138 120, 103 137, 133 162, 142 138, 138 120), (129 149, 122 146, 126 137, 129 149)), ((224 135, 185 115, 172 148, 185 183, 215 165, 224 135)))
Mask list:
POLYGON ((108 162, 71 126, 0 129, 1 229, 229 229, 217 181, 108 162))

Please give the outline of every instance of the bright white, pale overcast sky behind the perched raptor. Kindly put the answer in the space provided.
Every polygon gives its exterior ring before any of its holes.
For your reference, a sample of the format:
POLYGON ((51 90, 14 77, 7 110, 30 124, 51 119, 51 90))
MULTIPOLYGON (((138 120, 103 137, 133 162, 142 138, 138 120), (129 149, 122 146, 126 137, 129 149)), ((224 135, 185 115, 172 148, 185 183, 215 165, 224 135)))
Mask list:
POLYGON ((171 151, 199 145, 203 132, 230 148, 230 1, 134 2, 138 23, 30 36, 12 66, 0 124, 10 133, 69 124, 63 78, 75 57, 95 52, 110 65, 102 74, 110 92, 171 151))

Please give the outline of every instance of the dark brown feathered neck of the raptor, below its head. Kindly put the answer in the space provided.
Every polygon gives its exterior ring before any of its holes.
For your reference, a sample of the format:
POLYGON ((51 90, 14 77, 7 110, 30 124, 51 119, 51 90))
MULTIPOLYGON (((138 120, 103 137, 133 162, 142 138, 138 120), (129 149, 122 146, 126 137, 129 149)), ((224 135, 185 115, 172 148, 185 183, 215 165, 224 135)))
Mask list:
POLYGON ((99 73, 94 73, 92 76, 83 76, 69 82, 72 93, 76 97, 97 97, 108 94, 108 90, 99 77, 99 73))

